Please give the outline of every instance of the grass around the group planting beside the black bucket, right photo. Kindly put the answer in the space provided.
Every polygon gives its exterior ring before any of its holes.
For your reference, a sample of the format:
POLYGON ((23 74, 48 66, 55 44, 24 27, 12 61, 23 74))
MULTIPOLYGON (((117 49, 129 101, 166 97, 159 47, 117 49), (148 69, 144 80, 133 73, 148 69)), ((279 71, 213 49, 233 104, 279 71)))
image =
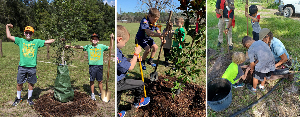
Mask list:
MULTIPOLYGON (((253 4, 253 3, 249 3, 253 4)), ((256 4, 255 5, 259 5, 256 4)), ((297 44, 300 42, 300 22, 283 16, 278 16, 272 13, 268 9, 258 9, 258 13, 261 14, 260 27, 268 28, 274 34, 274 37, 280 39, 280 41, 285 45, 289 55, 295 59, 299 58, 300 46, 297 44)), ((224 37, 224 43, 220 46, 220 49, 217 47, 218 43, 218 19, 216 18, 215 7, 207 7, 207 17, 208 17, 208 48, 212 48, 217 51, 217 55, 224 55, 228 53, 226 40, 224 37)), ((247 48, 245 48, 241 40, 244 36, 247 35, 247 24, 245 17, 245 8, 236 8, 235 9, 235 27, 232 28, 232 37, 233 37, 233 50, 230 52, 241 51, 246 53, 247 48)), ((249 19, 249 36, 252 37, 252 27, 250 24, 251 20, 249 19)), ((209 58, 209 57, 208 57, 209 58)), ((208 63, 208 66, 211 66, 211 63, 208 63)), ((225 67, 225 66, 224 66, 225 67)), ((226 66, 227 67, 227 66, 226 66)), ((208 78, 209 79, 209 78, 208 78)), ((250 94, 246 87, 232 89, 232 103, 229 108, 222 112, 215 112, 211 110, 208 106, 208 116, 230 116, 233 113, 243 109, 247 105, 256 102, 260 97, 265 95, 269 89, 271 89, 279 80, 267 81, 269 84, 266 84, 267 90, 265 92, 257 91, 256 95, 250 94)), ((299 87, 299 83, 290 82, 287 79, 284 80, 267 98, 261 101, 256 106, 252 107, 250 110, 241 113, 238 116, 286 116, 286 113, 293 113, 294 115, 290 116, 299 116, 298 106, 293 106, 293 104, 299 103, 298 94, 288 94, 285 88, 290 88, 292 85, 299 87), (284 91, 285 90, 285 91, 284 91), (291 112, 286 112, 285 109, 295 110, 291 112), (286 112, 286 113, 284 113, 286 112)))

